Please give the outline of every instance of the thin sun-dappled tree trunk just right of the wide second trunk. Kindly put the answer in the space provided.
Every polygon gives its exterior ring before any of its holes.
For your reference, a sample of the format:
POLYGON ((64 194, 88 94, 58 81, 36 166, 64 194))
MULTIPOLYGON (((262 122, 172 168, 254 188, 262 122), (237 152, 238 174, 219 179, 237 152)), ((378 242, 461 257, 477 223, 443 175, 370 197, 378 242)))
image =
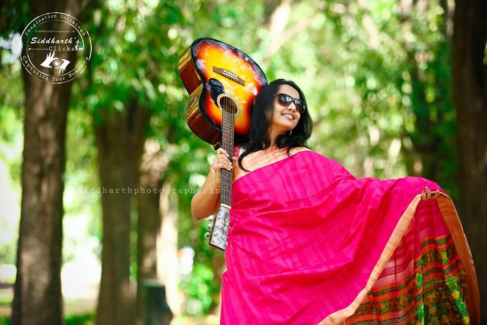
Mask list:
POLYGON ((159 210, 162 175, 167 167, 167 159, 160 152, 160 146, 147 140, 140 166, 137 195, 137 325, 145 324, 144 281, 157 279, 157 236, 163 215, 159 210))

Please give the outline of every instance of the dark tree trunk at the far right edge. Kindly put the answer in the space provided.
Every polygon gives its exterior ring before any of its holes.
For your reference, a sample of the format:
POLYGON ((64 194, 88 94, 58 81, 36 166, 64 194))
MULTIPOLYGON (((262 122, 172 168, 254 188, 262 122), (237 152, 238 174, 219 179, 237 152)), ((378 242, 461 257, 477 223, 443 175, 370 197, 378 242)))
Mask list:
MULTIPOLYGON (((452 47, 453 93, 457 110, 459 215, 472 251, 480 297, 487 297, 487 2, 457 1, 452 47)), ((480 314, 487 315, 487 302, 480 314)))

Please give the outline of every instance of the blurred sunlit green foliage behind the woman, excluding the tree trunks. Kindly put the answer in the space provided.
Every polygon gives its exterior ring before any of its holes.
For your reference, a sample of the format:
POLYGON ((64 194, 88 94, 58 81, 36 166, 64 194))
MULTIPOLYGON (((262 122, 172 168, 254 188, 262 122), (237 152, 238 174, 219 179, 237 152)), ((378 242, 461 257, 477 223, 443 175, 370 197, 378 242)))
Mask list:
MULTIPOLYGON (((177 68, 179 55, 199 37, 246 52, 269 81, 286 78, 300 85, 315 121, 309 141, 315 151, 357 177, 430 178, 455 200, 456 123, 442 2, 302 0, 292 4, 289 17, 277 18, 282 32, 269 27, 280 3, 91 3, 83 23, 93 56, 73 86, 66 133, 65 261, 76 257, 80 243, 101 240, 100 196, 90 191, 99 186, 93 125, 106 122, 107 112, 136 106, 148 111, 147 135, 169 159, 163 181, 165 190, 178 193, 179 246, 196 252, 193 272, 181 283, 186 309, 204 313, 218 299, 211 263, 221 252, 203 240, 205 224, 195 222, 190 211, 214 150, 187 126, 188 94, 177 68)), ((2 8, 0 23, 13 26, 0 34, 5 42, 28 22, 18 18, 26 13, 16 14, 25 8, 25 3, 2 8)), ((21 151, 7 158, 5 148, 22 139, 21 67, 9 59, 8 46, 0 50, 6 80, 0 84, 0 160, 20 192, 21 151)), ((134 242, 132 236, 132 247, 134 242)), ((0 246, 0 258, 13 263, 15 241, 7 246, 0 246)), ((132 277, 135 273, 132 263, 132 277)))

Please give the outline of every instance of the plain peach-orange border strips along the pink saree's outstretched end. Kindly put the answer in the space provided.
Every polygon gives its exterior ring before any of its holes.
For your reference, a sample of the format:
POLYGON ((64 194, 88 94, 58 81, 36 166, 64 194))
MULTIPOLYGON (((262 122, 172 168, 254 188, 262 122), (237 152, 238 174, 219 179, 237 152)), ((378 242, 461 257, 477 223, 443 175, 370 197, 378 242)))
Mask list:
MULTIPOLYGON (((396 228, 394 229, 388 243, 386 244, 386 247, 379 257, 377 264, 372 270, 372 273, 367 281, 365 288, 360 291, 355 300, 349 306, 328 315, 317 325, 344 324, 345 319, 355 313, 357 308, 364 301, 367 293, 372 289, 381 272, 386 267, 386 264, 389 262, 394 250, 399 245, 399 242, 406 232, 409 223, 414 216, 416 208, 421 201, 421 196, 422 193, 416 195, 402 214, 399 222, 396 225, 396 228)), ((436 200, 438 202, 438 207, 446 223, 446 226, 450 231, 451 237, 453 238, 453 241, 455 243, 455 248, 457 249, 457 252, 460 256, 465 273, 467 274, 467 309, 470 317, 470 323, 472 325, 478 325, 480 324, 480 293, 478 289, 477 276, 475 274, 473 258, 468 247, 467 238, 465 237, 462 224, 460 223, 460 219, 457 214, 457 210, 455 209, 451 198, 445 193, 440 192, 440 196, 436 200)))

